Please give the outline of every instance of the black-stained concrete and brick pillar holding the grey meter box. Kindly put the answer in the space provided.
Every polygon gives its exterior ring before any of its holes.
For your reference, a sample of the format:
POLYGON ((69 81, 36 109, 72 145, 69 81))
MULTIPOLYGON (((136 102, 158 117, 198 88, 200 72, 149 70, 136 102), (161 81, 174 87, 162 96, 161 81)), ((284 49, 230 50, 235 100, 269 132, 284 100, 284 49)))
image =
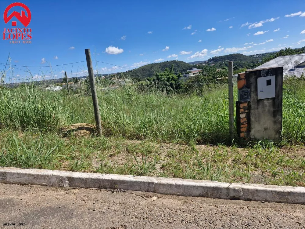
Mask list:
POLYGON ((238 74, 237 133, 244 140, 281 141, 283 67, 238 74))

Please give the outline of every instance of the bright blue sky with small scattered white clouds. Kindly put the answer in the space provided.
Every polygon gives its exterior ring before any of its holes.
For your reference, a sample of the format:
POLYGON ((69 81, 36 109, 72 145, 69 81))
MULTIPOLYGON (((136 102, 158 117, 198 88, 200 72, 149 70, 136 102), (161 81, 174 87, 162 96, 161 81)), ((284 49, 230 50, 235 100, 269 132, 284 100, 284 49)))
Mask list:
MULTIPOLYGON (((0 1, 0 11, 16 1, 0 1)), ((305 46, 305 1, 20 1, 32 13, 31 44, 0 40, 0 63, 10 55, 11 78, 61 78, 85 74, 90 49, 102 74, 144 64, 207 60, 231 53, 251 55, 305 46), (279 30, 278 30, 279 29, 279 30), (303 32, 303 33, 302 33, 303 32)), ((18 11, 19 8, 12 9, 18 11)), ((2 17, 1 17, 2 18, 2 17)), ((11 28, 4 23, 3 28, 11 28)), ((17 21, 17 27, 23 27, 17 21)), ((3 71, 4 66, 0 65, 3 71)))

